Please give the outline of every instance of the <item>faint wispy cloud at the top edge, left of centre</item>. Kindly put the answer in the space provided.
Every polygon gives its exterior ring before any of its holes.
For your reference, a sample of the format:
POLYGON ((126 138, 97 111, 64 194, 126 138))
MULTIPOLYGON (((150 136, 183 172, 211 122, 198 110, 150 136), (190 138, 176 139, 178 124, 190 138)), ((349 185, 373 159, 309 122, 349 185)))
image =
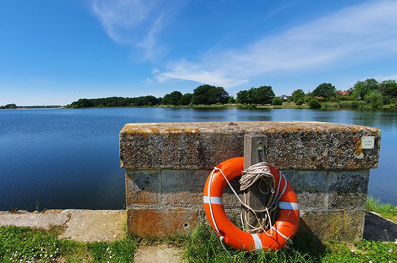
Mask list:
POLYGON ((144 59, 157 60, 166 54, 158 43, 159 34, 183 3, 183 0, 91 0, 91 7, 109 38, 122 45, 143 48, 144 59))

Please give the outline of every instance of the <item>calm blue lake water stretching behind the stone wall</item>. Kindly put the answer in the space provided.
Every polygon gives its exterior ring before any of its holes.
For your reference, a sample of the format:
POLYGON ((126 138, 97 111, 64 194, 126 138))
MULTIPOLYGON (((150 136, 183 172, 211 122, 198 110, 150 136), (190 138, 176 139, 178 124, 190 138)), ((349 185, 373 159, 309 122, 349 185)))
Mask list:
POLYGON ((397 111, 111 108, 0 110, 0 211, 123 209, 119 132, 128 122, 307 120, 382 130, 368 192, 397 205, 397 111))

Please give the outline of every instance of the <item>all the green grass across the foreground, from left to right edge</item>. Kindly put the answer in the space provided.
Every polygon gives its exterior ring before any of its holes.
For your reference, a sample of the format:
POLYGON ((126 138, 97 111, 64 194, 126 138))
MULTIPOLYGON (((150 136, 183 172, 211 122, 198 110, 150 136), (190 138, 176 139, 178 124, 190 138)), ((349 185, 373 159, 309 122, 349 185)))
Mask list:
POLYGON ((254 254, 236 251, 226 245, 225 251, 210 225, 196 227, 189 236, 166 240, 128 237, 112 242, 81 243, 58 240, 60 229, 44 231, 29 227, 0 227, 1 262, 132 262, 138 246, 168 243, 183 250, 187 262, 397 262, 394 242, 362 241, 352 246, 329 241, 313 245, 308 236, 298 236, 289 247, 254 254), (353 250, 353 251, 352 251, 353 250), (391 251, 391 252, 390 252, 391 251), (52 257, 50 256, 52 255, 52 257))

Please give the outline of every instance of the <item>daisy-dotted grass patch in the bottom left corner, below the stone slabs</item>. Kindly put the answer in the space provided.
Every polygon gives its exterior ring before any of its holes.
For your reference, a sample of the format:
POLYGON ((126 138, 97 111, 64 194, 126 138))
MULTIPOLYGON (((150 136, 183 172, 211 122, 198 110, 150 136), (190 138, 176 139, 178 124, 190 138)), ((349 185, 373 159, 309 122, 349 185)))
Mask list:
POLYGON ((0 227, 1 262, 131 262, 138 240, 132 237, 112 242, 81 243, 59 240, 60 229, 44 231, 30 227, 0 227), (22 260, 22 261, 20 261, 22 260))

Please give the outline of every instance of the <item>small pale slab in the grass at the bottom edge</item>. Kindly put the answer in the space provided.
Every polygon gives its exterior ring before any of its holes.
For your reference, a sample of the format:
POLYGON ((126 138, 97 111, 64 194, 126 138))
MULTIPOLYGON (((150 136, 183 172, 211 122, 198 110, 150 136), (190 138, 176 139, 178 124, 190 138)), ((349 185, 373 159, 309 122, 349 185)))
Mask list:
POLYGON ((160 245, 139 247, 134 253, 136 263, 180 263, 182 251, 179 248, 160 245))

